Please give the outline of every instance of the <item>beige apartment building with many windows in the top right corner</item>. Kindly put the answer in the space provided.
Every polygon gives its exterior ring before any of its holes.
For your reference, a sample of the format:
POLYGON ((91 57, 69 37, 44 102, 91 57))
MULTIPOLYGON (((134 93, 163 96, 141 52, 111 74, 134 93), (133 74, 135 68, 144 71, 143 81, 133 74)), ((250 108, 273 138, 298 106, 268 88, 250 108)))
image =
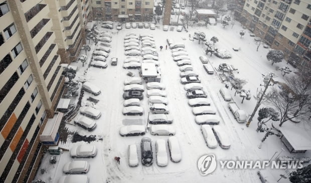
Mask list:
POLYGON ((309 0, 246 0, 240 21, 300 67, 311 60, 310 16, 309 0))

